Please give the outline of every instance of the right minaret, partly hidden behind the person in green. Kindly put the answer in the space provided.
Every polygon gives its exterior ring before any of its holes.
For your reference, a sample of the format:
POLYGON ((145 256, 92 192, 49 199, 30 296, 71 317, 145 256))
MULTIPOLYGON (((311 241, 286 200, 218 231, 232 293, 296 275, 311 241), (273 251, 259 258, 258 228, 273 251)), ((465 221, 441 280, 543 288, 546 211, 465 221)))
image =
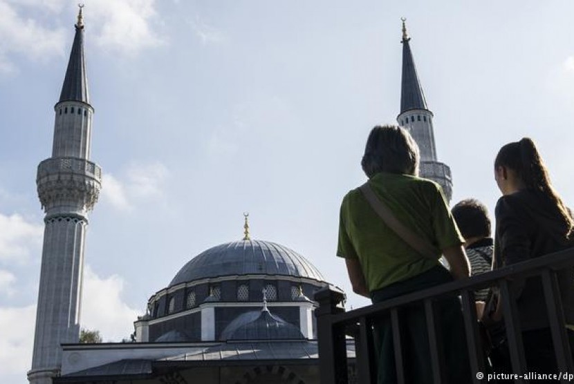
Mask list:
POLYGON ((452 177, 450 168, 438 162, 432 118, 434 115, 427 108, 427 101, 420 86, 413 54, 407 34, 405 18, 402 19, 402 80, 400 90, 400 114, 397 122, 411 133, 420 150, 420 177, 433 180, 441 184, 447 201, 452 198, 452 177))

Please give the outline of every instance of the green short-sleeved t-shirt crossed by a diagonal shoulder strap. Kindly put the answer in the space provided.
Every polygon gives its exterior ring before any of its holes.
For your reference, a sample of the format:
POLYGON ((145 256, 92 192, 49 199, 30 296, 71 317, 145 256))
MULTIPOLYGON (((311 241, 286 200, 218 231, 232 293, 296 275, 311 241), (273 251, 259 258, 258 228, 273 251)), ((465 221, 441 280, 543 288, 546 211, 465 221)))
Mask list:
POLYGON ((377 173, 371 189, 396 218, 433 244, 436 261, 421 256, 387 227, 359 189, 341 204, 337 256, 358 259, 369 291, 407 280, 439 265, 439 250, 463 244, 440 186, 410 175, 377 173))

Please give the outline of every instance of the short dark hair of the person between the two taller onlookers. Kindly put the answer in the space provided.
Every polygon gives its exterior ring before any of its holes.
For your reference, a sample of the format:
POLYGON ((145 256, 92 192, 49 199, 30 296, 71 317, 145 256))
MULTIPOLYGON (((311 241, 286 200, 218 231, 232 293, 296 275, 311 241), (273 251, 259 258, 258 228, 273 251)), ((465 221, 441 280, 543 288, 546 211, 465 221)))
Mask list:
POLYGON ((476 199, 465 199, 452 207, 452 215, 463 238, 490 237, 490 217, 486 206, 476 199))

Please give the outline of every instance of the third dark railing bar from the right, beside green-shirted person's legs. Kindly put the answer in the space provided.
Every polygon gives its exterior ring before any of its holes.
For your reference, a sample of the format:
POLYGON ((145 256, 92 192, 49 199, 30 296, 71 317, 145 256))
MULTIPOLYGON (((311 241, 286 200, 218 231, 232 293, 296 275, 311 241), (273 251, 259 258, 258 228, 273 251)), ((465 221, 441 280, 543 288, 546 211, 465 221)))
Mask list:
MULTIPOLYGON (((464 290, 462 291, 461 296, 466 340, 468 345, 468 357, 470 358, 470 369, 472 369, 471 372, 485 372, 482 343, 479 334, 478 320, 476 320, 474 291, 464 290)), ((474 383, 481 382, 475 375, 472 375, 472 380, 474 383)))

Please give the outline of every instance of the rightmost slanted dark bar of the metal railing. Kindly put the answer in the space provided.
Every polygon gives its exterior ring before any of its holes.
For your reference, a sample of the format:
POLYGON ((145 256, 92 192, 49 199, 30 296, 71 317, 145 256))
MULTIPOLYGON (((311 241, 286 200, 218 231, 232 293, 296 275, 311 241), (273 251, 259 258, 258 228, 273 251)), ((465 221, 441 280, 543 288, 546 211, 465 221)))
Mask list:
MULTIPOLYGON (((564 311, 562 310, 562 298, 556 272, 544 269, 541 275, 558 369, 561 372, 574 372, 570 343, 564 327, 564 311)), ((568 380, 562 378, 562 383, 568 383, 568 380)))

